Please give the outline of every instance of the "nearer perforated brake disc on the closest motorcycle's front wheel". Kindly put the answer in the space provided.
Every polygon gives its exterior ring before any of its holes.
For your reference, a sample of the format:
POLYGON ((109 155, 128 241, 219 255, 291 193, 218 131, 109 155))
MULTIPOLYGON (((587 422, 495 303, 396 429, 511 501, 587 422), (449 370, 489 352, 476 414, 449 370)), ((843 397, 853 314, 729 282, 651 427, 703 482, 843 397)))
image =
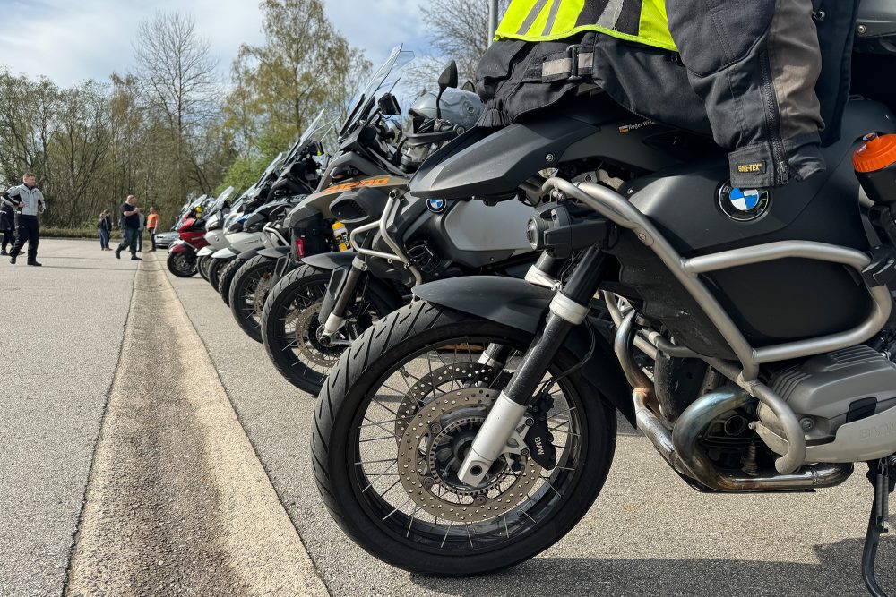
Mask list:
POLYGON ((459 389, 423 406, 409 421, 398 446, 399 474, 409 498, 426 513, 476 523, 501 516, 527 499, 541 466, 518 451, 499 456, 480 487, 471 488, 452 476, 463 456, 457 446, 471 441, 499 394, 494 389, 459 389))

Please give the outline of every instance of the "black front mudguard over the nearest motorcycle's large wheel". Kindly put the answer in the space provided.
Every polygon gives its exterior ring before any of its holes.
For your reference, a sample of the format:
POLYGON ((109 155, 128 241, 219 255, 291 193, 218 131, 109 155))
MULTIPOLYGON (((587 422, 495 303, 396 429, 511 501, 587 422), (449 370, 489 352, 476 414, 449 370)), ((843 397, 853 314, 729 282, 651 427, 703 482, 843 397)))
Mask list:
MULTIPOLYGON (((536 334, 542 327, 547 307, 554 292, 532 286, 513 277, 466 276, 437 280, 413 288, 415 296, 456 311, 495 321, 505 326, 536 334)), ((632 403, 632 388, 616 360, 613 348, 597 329, 594 352, 582 365, 582 375, 628 422, 637 426, 632 403)), ((566 347, 584 358, 590 349, 591 335, 584 326, 573 328, 566 338, 566 347)))

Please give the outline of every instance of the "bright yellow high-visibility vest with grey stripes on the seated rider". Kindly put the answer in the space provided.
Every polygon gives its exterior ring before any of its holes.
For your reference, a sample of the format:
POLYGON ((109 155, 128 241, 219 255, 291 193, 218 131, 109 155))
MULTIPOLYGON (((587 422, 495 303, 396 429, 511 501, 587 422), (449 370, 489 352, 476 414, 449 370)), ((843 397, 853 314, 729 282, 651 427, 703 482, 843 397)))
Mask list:
POLYGON ((512 0, 495 39, 556 41, 582 31, 677 51, 665 0, 512 0))

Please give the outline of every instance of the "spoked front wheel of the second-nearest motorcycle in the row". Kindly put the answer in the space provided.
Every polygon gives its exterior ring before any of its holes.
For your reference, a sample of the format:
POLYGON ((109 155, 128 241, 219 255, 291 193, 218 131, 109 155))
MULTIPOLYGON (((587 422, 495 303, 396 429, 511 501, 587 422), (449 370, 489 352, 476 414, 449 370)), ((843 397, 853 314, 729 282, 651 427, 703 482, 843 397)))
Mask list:
POLYGON ((318 315, 330 277, 330 271, 306 265, 294 269, 271 289, 262 315, 271 361, 294 386, 315 396, 351 340, 391 311, 388 301, 368 292, 349 309, 346 325, 332 339, 321 337, 318 315))

